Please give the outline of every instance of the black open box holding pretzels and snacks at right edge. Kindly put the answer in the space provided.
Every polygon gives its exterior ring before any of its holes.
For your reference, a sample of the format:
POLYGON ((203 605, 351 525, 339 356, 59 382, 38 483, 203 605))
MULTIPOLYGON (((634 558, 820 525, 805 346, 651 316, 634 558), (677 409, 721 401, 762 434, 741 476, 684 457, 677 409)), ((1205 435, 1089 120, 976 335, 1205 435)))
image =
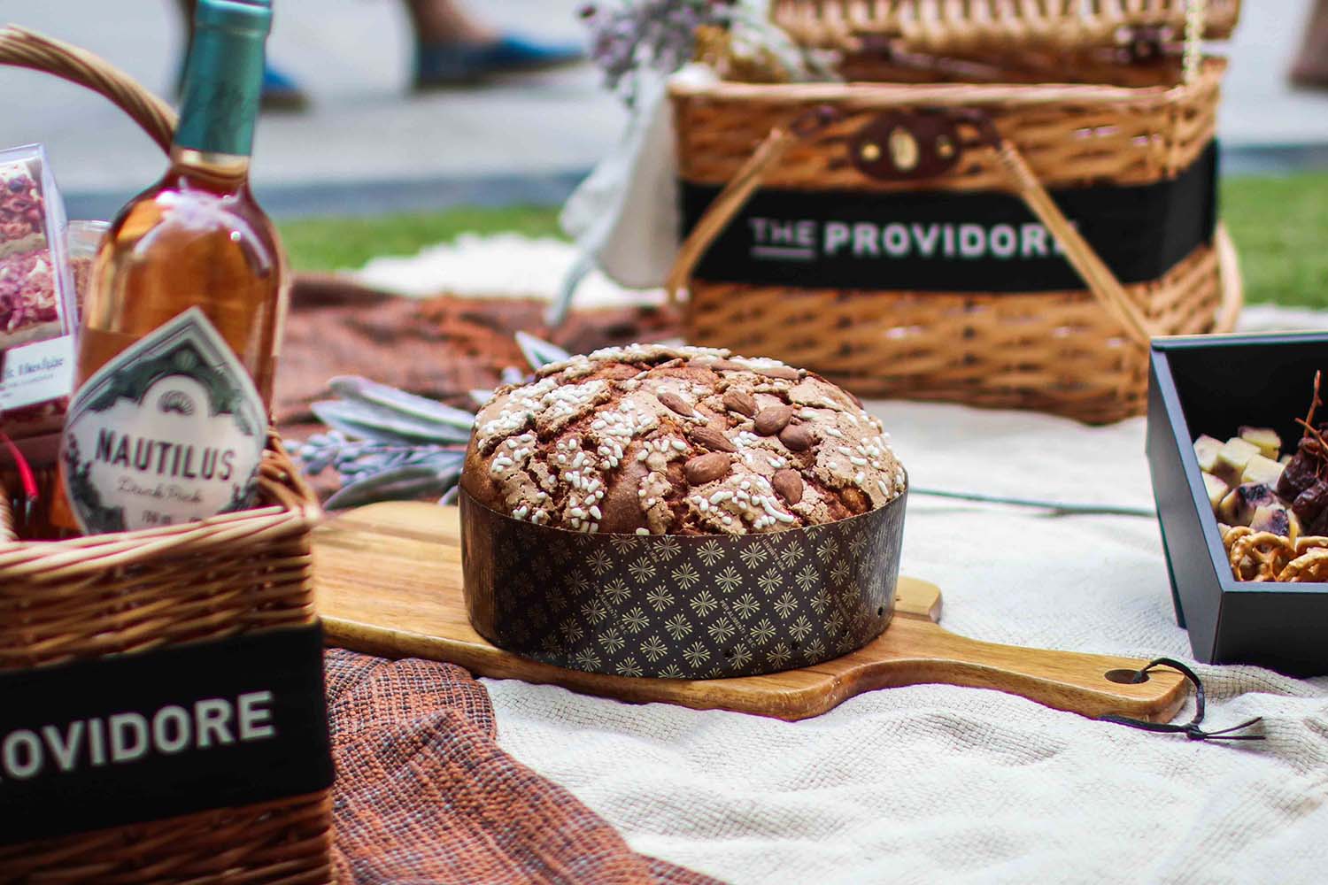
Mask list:
POLYGON ((1201 434, 1226 439, 1240 425, 1274 427, 1295 451, 1317 370, 1328 377, 1323 332, 1153 342, 1149 467, 1177 622, 1201 661, 1328 673, 1328 584, 1236 580, 1194 452, 1201 434))

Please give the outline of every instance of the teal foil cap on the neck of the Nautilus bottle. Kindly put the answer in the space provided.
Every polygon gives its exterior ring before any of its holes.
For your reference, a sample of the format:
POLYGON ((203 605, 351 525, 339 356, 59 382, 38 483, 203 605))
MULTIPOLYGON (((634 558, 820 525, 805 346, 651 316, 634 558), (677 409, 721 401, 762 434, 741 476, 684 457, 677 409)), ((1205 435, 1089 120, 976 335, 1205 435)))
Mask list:
POLYGON ((175 145, 248 155, 263 90, 268 0, 197 0, 175 145))

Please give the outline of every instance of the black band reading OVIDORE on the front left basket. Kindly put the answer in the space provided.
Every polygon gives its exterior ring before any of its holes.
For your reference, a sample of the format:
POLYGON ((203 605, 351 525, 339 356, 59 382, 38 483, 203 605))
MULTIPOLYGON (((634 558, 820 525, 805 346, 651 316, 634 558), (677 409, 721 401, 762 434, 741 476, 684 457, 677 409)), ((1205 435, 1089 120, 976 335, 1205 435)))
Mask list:
POLYGON ((323 629, 0 673, 0 844, 332 783, 323 629))

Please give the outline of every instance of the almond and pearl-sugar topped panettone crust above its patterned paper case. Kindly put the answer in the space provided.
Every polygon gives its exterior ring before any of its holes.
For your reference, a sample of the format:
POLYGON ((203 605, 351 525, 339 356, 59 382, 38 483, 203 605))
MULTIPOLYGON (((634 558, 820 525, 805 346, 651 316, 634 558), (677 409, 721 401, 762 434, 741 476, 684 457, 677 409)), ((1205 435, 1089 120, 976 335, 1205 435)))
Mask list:
POLYGON ((582 532, 744 535, 865 513, 904 491, 880 422, 817 374, 728 350, 607 348, 502 387, 462 487, 582 532))

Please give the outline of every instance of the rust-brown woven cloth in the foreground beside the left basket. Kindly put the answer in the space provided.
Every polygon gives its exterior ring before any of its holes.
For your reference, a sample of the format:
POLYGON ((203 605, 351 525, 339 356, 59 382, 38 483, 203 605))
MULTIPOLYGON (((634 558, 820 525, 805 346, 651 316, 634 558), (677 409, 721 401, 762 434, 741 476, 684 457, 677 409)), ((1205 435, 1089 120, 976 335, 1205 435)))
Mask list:
POLYGON ((450 663, 332 649, 328 709, 341 882, 709 885, 643 857, 503 752, 483 686, 450 663))

